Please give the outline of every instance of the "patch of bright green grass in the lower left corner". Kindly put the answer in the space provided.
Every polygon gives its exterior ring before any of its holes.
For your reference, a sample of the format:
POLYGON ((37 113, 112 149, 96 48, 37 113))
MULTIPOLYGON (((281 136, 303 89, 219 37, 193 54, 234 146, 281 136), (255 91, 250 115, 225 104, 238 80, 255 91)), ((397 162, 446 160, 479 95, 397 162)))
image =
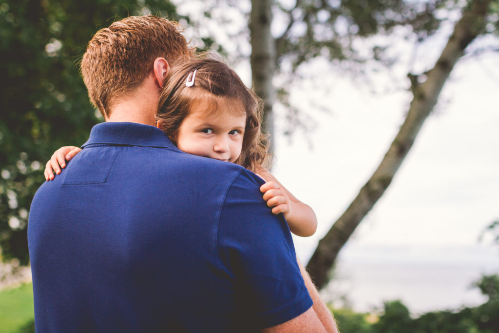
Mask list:
POLYGON ((21 287, 0 291, 0 332, 24 332, 32 325, 33 285, 24 284, 21 287))

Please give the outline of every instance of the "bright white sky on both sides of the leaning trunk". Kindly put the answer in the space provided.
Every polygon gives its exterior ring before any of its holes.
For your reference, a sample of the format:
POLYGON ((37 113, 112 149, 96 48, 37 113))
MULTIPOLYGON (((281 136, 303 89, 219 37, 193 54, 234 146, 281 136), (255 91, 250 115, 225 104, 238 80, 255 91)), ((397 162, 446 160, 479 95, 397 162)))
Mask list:
MULTIPOLYGON (((467 61, 455 68, 441 95, 446 101, 361 222, 356 243, 475 245, 482 229, 499 218, 498 62, 467 61)), ((319 218, 316 235, 296 240, 300 248, 322 237, 372 174, 410 98, 403 91, 372 95, 348 79, 337 80, 327 96, 335 111, 318 115, 313 149, 299 133, 291 145, 277 140, 275 175, 319 218)))

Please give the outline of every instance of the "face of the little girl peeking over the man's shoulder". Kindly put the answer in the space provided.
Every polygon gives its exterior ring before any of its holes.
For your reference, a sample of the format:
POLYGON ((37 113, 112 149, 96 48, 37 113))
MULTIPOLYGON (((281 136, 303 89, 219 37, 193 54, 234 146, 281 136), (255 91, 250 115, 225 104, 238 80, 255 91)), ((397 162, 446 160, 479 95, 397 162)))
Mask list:
POLYGON ((234 163, 243 147, 246 114, 237 109, 239 103, 216 99, 216 103, 198 101, 192 105, 178 130, 177 146, 189 154, 234 163), (210 108, 213 105, 216 110, 210 108))

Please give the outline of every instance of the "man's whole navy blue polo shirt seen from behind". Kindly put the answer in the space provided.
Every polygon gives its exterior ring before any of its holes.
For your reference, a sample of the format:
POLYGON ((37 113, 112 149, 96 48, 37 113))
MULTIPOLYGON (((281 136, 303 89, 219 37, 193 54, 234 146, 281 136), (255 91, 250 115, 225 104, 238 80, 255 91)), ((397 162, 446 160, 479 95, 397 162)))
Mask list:
POLYGON ((37 332, 253 332, 297 317, 312 301, 261 184, 156 127, 94 126, 31 205, 37 332))

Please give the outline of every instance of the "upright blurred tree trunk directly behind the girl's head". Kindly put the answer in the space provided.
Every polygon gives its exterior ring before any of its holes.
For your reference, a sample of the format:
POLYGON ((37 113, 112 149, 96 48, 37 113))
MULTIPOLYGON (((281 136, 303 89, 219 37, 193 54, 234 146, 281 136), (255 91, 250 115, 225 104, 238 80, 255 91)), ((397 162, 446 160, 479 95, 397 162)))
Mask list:
POLYGON ((275 73, 275 40, 270 34, 272 22, 271 0, 252 0, 250 15, 251 78, 255 93, 263 100, 262 130, 269 134, 270 152, 274 151, 274 119, 272 105, 275 89, 272 77, 275 73))

